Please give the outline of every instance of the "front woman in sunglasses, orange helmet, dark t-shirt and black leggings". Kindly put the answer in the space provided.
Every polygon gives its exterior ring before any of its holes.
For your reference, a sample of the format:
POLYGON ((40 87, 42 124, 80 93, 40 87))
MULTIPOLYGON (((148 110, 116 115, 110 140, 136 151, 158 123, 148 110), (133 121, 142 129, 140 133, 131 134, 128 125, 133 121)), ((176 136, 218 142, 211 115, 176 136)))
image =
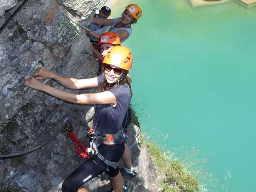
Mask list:
POLYGON ((62 192, 88 192, 84 183, 107 172, 115 192, 123 191, 123 178, 118 162, 124 153, 124 136, 121 132, 122 122, 130 105, 132 91, 130 81, 126 78, 132 68, 132 54, 124 46, 114 46, 102 61, 102 74, 95 78, 65 78, 41 67, 34 72, 36 78, 25 80, 24 84, 65 100, 78 104, 94 104, 93 142, 98 153, 72 172, 62 184, 62 192), (52 78, 69 89, 98 88, 94 94, 74 94, 58 90, 38 80, 52 78))

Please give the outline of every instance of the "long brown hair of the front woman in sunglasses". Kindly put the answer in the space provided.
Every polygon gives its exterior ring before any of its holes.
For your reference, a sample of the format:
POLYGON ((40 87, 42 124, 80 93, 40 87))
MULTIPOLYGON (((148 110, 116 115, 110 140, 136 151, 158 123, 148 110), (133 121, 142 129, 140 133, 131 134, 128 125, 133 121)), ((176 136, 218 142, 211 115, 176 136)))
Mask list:
MULTIPOLYGON (((113 83, 113 84, 109 84, 109 83, 107 82, 107 80, 106 80, 106 78, 105 78, 104 70, 105 70, 105 69, 104 69, 104 64, 102 64, 102 70, 101 70, 101 71, 102 71, 102 75, 104 76, 104 80, 103 80, 103 82, 102 82, 102 84, 101 84, 100 92, 107 91, 107 90, 109 90, 110 88, 112 88, 114 85, 116 85, 116 84, 114 84, 114 83, 113 83)), ((129 71, 124 70, 124 80, 122 80, 122 82, 120 82, 120 84, 118 84, 117 86, 120 86, 120 85, 122 85, 122 84, 127 83, 128 86, 129 86, 129 88, 130 88, 130 93, 131 93, 131 96, 132 96, 132 86, 131 86, 131 84, 132 84, 132 79, 127 76, 128 72, 129 72, 129 71)))

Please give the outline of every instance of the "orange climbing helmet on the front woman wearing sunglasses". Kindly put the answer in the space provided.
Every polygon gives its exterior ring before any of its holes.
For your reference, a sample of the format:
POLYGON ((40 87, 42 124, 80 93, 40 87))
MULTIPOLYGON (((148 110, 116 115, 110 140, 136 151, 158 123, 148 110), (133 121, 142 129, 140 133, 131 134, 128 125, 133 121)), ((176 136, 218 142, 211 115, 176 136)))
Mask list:
POLYGON ((132 69, 132 53, 125 46, 114 46, 104 57, 103 64, 116 66, 124 70, 132 69))

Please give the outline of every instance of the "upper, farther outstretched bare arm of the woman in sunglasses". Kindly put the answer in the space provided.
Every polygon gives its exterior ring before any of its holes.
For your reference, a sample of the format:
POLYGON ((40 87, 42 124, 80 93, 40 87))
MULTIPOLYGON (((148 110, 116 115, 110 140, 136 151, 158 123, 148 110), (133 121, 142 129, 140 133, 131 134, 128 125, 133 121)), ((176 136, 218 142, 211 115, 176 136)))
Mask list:
POLYGON ((52 71, 47 70, 44 67, 41 67, 36 72, 34 72, 33 76, 36 76, 37 80, 52 78, 56 82, 58 82, 58 84, 66 87, 66 88, 74 89, 74 90, 98 87, 97 77, 88 78, 88 79, 75 79, 75 78, 62 77, 62 76, 55 74, 52 71))

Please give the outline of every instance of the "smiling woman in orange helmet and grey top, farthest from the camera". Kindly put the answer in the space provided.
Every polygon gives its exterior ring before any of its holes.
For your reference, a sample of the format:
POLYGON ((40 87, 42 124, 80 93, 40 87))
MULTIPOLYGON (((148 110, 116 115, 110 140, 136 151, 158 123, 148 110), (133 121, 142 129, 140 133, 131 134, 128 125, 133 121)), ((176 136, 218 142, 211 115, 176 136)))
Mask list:
MULTIPOLYGON (((110 26, 108 31, 116 32, 120 37, 121 42, 124 42, 132 34, 131 25, 136 23, 137 20, 142 15, 142 10, 137 4, 130 4, 126 6, 126 9, 122 13, 120 18, 114 19, 100 19, 93 18, 92 23, 98 25, 108 25, 110 26)), ((95 38, 99 38, 100 35, 94 32, 89 32, 90 35, 95 38)))

